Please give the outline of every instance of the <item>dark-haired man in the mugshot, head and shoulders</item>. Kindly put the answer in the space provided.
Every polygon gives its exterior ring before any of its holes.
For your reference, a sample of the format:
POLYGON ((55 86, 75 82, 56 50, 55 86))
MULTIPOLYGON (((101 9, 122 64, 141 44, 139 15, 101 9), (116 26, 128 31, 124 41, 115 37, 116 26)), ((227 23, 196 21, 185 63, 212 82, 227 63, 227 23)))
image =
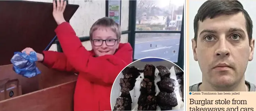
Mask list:
POLYGON ((252 20, 237 0, 209 0, 194 19, 193 57, 202 82, 189 91, 256 91, 244 73, 253 59, 252 20))

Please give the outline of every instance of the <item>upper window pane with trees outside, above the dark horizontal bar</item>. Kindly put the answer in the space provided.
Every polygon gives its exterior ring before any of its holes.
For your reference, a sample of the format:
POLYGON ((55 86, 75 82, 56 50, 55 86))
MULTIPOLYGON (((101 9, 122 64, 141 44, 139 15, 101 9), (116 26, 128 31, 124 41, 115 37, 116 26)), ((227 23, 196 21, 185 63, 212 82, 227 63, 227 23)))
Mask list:
POLYGON ((136 30, 180 30, 184 0, 137 0, 136 30))

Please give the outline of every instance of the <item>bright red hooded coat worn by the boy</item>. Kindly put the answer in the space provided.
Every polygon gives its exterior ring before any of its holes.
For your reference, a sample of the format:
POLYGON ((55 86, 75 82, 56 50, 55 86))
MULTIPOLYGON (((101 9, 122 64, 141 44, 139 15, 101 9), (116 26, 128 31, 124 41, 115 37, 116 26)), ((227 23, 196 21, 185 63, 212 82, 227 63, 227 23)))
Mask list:
POLYGON ((115 78, 129 63, 133 49, 120 43, 114 55, 94 57, 86 50, 68 22, 55 29, 64 53, 44 51, 43 63, 60 71, 78 72, 74 111, 111 111, 110 93, 115 78))

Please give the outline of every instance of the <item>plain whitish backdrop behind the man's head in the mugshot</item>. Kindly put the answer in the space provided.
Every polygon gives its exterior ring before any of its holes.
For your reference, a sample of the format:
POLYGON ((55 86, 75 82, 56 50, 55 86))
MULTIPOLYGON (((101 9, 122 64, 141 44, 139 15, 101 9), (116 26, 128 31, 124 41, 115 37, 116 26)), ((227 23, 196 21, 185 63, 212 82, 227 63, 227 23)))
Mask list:
MULTIPOLYGON (((188 15, 188 25, 189 25, 189 41, 188 42, 188 47, 189 47, 189 86, 196 84, 198 82, 202 81, 202 73, 201 70, 198 66, 198 63, 194 61, 193 59, 193 52, 192 52, 192 42, 191 39, 194 38, 194 29, 193 29, 193 20, 195 18, 195 15, 197 13, 197 10, 199 7, 205 2, 206 0, 190 0, 189 4, 189 12, 187 12, 188 15)), ((256 4, 255 0, 239 0, 244 6, 244 9, 248 12, 250 15, 252 22, 253 22, 253 33, 252 33, 252 38, 256 39, 256 14, 255 14, 255 6, 252 4, 256 4)), ((247 70, 245 73, 245 79, 249 82, 252 82, 256 84, 256 49, 254 51, 254 60, 248 63, 247 70)))

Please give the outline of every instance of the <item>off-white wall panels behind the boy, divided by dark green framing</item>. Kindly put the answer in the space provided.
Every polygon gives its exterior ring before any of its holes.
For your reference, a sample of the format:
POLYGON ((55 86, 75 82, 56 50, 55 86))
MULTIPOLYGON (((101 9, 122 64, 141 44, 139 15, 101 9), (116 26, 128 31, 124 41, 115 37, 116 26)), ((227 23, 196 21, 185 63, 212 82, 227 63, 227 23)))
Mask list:
MULTIPOLYGON (((52 3, 52 0, 27 0, 52 3)), ((75 30, 78 37, 89 36, 92 24, 105 17, 105 0, 68 0, 69 4, 77 4, 79 8, 70 19, 70 25, 75 30)), ((122 0, 121 4, 121 30, 128 30, 129 21, 129 1, 122 0)), ((128 34, 121 35, 121 43, 128 42, 128 34)), ((87 50, 91 50, 90 41, 82 43, 87 50)), ((57 51, 56 44, 53 44, 49 50, 57 51)))

